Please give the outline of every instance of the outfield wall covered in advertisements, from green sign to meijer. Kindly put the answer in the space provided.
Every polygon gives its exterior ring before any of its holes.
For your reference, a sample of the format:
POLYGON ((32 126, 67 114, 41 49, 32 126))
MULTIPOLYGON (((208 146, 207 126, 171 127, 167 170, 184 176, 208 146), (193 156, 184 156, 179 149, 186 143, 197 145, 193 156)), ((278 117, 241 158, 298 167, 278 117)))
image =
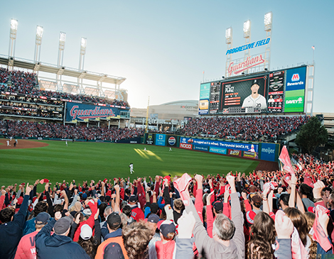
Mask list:
POLYGON ((144 143, 272 162, 277 162, 279 158, 279 144, 276 143, 191 138, 158 133, 145 133, 144 143))

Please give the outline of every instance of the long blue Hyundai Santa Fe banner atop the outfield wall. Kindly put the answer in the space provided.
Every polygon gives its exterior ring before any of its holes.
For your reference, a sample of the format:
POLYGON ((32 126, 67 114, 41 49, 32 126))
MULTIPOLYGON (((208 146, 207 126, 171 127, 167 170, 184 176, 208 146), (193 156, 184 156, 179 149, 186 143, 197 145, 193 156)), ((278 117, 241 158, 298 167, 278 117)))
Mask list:
POLYGON ((205 140, 197 138, 180 138, 180 143, 190 143, 193 145, 205 145, 209 147, 227 148, 242 151, 259 152, 259 145, 250 143, 227 142, 220 140, 205 140))

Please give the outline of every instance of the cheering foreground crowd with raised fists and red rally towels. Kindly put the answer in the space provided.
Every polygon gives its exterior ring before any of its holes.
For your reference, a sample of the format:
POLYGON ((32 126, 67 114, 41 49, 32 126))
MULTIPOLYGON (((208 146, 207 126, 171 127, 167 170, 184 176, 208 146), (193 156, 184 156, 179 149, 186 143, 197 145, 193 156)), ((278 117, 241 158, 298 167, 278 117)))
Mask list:
POLYGON ((333 258, 334 161, 293 158, 294 174, 2 186, 0 258, 333 258))

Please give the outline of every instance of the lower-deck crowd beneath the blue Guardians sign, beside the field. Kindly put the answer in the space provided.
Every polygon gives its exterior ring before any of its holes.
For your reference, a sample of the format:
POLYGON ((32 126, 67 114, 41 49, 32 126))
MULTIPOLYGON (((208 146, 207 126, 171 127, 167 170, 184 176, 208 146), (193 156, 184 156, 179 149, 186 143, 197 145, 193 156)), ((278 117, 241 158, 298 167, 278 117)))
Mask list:
POLYGON ((95 128, 62 123, 0 121, 0 132, 23 138, 67 138, 80 140, 122 140, 144 135, 143 128, 95 128))

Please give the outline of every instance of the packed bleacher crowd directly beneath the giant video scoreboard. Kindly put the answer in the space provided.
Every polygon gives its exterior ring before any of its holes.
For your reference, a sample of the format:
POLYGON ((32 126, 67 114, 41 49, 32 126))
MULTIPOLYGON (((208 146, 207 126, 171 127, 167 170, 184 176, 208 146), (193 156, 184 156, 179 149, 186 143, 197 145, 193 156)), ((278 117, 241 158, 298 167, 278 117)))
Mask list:
POLYGON ((293 133, 308 121, 308 116, 244 116, 196 118, 188 121, 181 134, 259 141, 262 136, 273 142, 293 133))

